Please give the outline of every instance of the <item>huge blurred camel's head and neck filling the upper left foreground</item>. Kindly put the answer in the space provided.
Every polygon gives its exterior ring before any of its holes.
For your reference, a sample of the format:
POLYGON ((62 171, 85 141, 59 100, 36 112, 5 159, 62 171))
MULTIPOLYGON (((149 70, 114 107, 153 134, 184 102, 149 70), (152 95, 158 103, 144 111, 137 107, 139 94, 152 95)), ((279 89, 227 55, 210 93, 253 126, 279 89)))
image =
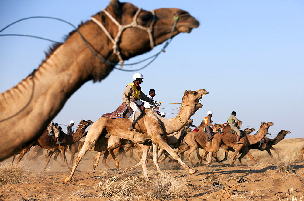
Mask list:
POLYGON ((0 147, 0 162, 34 142, 85 82, 100 82, 118 62, 199 26, 177 8, 149 12, 118 0, 111 0, 91 19, 64 43, 55 44, 38 69, 0 94, 0 138, 5 144, 0 147))

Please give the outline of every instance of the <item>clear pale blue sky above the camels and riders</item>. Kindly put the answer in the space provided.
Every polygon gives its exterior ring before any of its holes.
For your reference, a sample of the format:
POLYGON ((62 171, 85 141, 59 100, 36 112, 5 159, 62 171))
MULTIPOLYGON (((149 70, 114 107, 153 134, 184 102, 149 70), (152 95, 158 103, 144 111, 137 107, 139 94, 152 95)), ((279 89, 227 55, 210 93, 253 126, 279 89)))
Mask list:
MULTIPOLYGON (((304 1, 205 1, 130 0, 152 10, 180 8, 188 11, 200 26, 190 34, 173 38, 164 53, 145 69, 141 88, 155 89, 154 100, 161 108, 177 108, 185 90, 206 89, 203 107, 193 116, 199 126, 207 111, 214 123, 227 121, 232 111, 243 122, 242 129, 258 129, 261 122, 273 122, 267 136, 289 130, 286 138, 302 138, 304 122, 304 1)), ((109 1, 11 0, 0 1, 0 29, 31 16, 61 18, 78 26, 106 8, 109 1)), ((64 42, 74 28, 60 21, 30 19, 12 25, 0 34, 35 35, 64 42)), ((18 36, 0 37, 0 92, 17 85, 45 59, 52 42, 18 36)), ((154 50, 129 59, 133 63, 157 53, 154 50)), ((143 66, 126 66, 136 70, 143 66)), ((137 71, 135 71, 137 72, 137 71)), ((65 130, 70 120, 96 121, 122 103, 122 92, 135 72, 114 69, 101 82, 89 81, 78 89, 54 118, 65 130)), ((178 110, 160 109, 166 118, 178 110)))

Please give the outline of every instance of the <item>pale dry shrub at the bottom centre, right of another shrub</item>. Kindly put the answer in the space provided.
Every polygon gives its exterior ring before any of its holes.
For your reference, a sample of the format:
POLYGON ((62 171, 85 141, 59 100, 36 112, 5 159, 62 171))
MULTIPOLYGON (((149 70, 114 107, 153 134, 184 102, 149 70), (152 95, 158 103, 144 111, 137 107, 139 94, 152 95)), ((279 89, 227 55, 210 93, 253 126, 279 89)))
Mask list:
POLYGON ((188 196, 190 186, 187 184, 186 177, 175 178, 166 171, 162 171, 158 177, 152 185, 153 199, 171 200, 188 196))

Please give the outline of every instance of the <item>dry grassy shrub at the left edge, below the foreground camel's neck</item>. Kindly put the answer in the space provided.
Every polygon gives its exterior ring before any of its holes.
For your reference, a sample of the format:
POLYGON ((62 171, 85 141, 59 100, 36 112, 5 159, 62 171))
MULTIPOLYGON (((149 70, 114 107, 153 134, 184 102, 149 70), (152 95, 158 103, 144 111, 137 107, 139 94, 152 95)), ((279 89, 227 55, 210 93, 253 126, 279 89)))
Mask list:
POLYGON ((29 173, 23 164, 11 165, 4 164, 0 167, 0 186, 20 182, 29 173))

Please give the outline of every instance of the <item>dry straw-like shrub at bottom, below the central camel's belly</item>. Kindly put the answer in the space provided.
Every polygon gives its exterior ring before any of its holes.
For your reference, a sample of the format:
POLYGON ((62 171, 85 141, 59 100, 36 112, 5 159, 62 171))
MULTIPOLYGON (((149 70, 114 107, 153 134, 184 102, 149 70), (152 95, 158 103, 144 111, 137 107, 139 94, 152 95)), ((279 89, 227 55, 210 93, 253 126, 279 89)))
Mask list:
POLYGON ((99 196, 115 197, 115 200, 123 200, 126 197, 136 196, 136 190, 140 187, 138 178, 134 176, 122 178, 116 175, 98 184, 99 196))

